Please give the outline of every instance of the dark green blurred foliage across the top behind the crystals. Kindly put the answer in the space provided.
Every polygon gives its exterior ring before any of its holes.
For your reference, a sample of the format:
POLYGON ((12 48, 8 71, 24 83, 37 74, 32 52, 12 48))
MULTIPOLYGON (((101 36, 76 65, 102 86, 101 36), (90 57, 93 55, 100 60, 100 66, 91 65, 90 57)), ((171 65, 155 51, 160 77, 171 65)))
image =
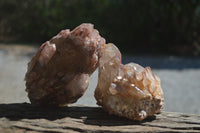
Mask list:
POLYGON ((93 23, 127 54, 200 55, 200 0, 1 0, 0 42, 42 44, 93 23))

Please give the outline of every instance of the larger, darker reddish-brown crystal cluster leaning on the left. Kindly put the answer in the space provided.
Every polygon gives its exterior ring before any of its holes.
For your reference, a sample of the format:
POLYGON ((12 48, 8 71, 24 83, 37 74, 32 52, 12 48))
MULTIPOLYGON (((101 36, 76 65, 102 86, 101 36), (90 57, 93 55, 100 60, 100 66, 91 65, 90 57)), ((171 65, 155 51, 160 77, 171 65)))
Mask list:
POLYGON ((31 103, 65 105, 76 102, 88 87, 105 40, 92 24, 62 30, 45 42, 28 64, 26 91, 31 103))

